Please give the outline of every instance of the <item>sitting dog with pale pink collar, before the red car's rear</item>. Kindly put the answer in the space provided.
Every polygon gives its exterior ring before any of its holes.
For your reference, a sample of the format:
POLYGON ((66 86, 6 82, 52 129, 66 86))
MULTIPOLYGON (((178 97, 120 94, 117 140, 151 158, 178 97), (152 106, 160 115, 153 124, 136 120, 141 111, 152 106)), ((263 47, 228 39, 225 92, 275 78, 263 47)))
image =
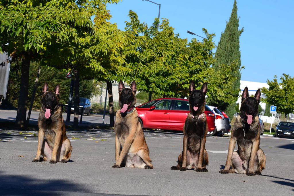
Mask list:
POLYGON ((191 82, 189 90, 190 113, 183 127, 183 152, 178 157, 178 165, 171 167, 171 170, 194 169, 196 172, 207 172, 208 154, 205 143, 208 126, 204 114, 207 84, 204 83, 201 90, 196 90, 191 82))

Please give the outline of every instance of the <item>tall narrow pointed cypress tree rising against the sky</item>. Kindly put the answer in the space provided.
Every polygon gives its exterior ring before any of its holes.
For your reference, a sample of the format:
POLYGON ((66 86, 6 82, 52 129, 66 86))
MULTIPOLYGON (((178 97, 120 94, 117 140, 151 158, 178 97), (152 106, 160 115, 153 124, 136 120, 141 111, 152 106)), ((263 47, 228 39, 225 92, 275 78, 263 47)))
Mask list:
MULTIPOLYGON (((240 91, 241 55, 239 49, 239 37, 243 32, 243 28, 239 30, 238 27, 239 18, 237 15, 237 2, 235 0, 230 19, 226 24, 224 33, 221 34, 215 54, 216 61, 213 64, 213 69, 216 70, 216 73, 229 73, 232 75, 232 77, 235 77, 233 85, 229 88, 231 91, 225 91, 224 95, 233 99, 229 102, 223 102, 216 99, 213 102, 214 105, 218 104, 218 107, 221 110, 224 110, 230 118, 232 118, 233 114, 235 113, 235 103, 238 99, 238 94, 240 91), (227 70, 227 66, 230 66, 231 69, 227 70)), ((226 80, 221 79, 220 82, 226 82, 226 80)))

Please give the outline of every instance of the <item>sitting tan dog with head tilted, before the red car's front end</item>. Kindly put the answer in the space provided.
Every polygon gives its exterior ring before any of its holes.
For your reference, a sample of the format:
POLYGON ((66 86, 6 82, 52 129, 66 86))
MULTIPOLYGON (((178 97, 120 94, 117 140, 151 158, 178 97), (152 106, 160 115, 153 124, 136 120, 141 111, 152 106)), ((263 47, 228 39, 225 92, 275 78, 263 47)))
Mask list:
POLYGON ((116 163, 112 168, 121 167, 123 162, 126 167, 153 169, 149 149, 135 108, 136 82, 132 82, 131 88, 125 88, 123 82, 120 81, 118 92, 118 103, 121 109, 116 113, 114 123, 116 163))

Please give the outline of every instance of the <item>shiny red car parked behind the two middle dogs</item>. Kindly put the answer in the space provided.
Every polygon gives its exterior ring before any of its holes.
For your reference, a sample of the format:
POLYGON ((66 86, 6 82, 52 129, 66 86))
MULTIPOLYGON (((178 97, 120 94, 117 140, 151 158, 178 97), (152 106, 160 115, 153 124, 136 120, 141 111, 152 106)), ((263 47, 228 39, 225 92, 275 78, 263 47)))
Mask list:
MULTIPOLYGON (((190 112, 188 99, 160 98, 136 107, 139 122, 146 129, 166 129, 183 131, 187 115, 190 112)), ((205 105, 208 135, 216 131, 215 114, 205 105)))

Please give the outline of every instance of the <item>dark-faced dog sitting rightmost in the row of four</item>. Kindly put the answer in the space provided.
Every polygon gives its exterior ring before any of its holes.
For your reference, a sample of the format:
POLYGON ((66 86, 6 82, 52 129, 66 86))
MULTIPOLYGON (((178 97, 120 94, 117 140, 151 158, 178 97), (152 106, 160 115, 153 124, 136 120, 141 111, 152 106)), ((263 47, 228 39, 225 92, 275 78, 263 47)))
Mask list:
POLYGON ((228 157, 222 174, 241 173, 249 176, 261 175, 266 158, 260 149, 260 125, 257 116, 260 89, 254 97, 249 97, 248 88, 242 93, 240 113, 231 131, 228 157), (237 142, 238 150, 234 151, 237 142), (231 168, 230 168, 231 166, 231 168))

